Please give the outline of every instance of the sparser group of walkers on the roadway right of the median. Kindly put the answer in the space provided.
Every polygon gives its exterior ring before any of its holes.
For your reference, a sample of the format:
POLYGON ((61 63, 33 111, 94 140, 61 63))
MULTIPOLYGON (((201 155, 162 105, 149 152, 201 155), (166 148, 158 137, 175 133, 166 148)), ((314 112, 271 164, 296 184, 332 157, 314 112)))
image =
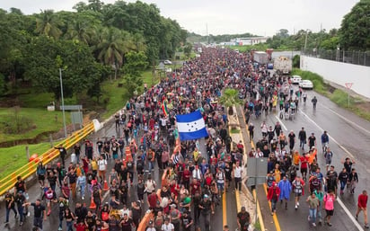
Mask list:
MULTIPOLYGON (((251 141, 255 137, 255 125, 250 121, 251 118, 258 119, 263 112, 268 115, 269 112, 278 110, 279 104, 280 119, 286 115, 287 120, 289 115, 295 114, 302 99, 304 104, 307 101, 307 93, 301 88, 295 91, 288 76, 270 76, 268 72, 262 70, 261 76, 255 81, 251 80, 247 85, 251 87, 246 92, 250 97, 244 104, 244 116, 251 141)), ((311 102, 315 110, 317 98, 313 97, 311 102)), ((339 173, 336 172, 335 166, 331 164, 333 152, 329 147, 327 131, 320 137, 322 151, 317 149, 318 141, 315 134, 307 135, 304 127, 296 133, 294 130, 285 133, 279 122, 268 125, 263 121, 260 124, 260 132, 261 138, 257 140, 255 148, 251 148, 249 157, 266 157, 268 160, 266 183, 269 187, 271 215, 277 211, 278 200, 281 205, 284 203, 285 209, 288 209, 292 193, 294 208, 298 209, 300 198, 304 196, 304 185, 307 184, 308 220, 313 227, 316 227, 317 220, 319 224, 324 222, 331 227, 330 218, 333 216, 334 201, 338 193, 343 195, 346 188, 348 194, 355 193, 358 182, 358 175, 353 167, 355 161, 350 157, 343 157, 341 160, 343 168, 339 173), (318 152, 324 159, 323 169, 318 164, 318 152), (322 209, 325 209, 326 216, 322 216, 322 209)), ((358 198, 356 218, 360 211, 364 211, 365 227, 368 228, 366 202, 367 196, 364 191, 358 198)))

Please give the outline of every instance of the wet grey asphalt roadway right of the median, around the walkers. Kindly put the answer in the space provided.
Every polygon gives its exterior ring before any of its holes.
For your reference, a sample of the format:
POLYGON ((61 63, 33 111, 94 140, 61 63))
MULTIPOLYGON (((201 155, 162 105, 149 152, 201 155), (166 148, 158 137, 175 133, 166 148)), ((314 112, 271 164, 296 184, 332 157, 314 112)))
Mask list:
MULTIPOLYGON (((304 127, 307 137, 312 132, 316 137, 317 147, 319 149, 318 162, 322 168, 322 173, 325 175, 325 159, 322 155, 321 135, 323 130, 327 130, 330 136, 329 147, 333 153, 331 164, 335 166, 335 170, 339 173, 343 168, 341 159, 350 157, 356 162, 353 167, 357 170, 359 182, 354 195, 345 191, 344 195, 338 196, 338 200, 334 206, 334 217, 331 218, 332 227, 326 225, 322 227, 310 226, 307 220, 308 206, 304 202, 308 196, 307 194, 300 200, 301 206, 297 210, 295 210, 293 194, 288 202, 287 210, 278 203, 277 217, 279 226, 281 230, 364 230, 363 215, 360 214, 357 221, 355 219, 355 213, 358 194, 363 190, 370 191, 370 181, 367 178, 370 173, 370 169, 368 168, 370 164, 370 154, 368 153, 370 147, 370 123, 351 112, 339 108, 336 104, 318 93, 314 93, 313 91, 307 91, 307 93, 308 100, 305 105, 303 101, 299 102, 295 120, 280 120, 277 112, 270 113, 267 117, 261 115, 258 120, 255 117, 251 117, 251 122, 254 123, 256 128, 254 132, 254 143, 261 138, 260 124, 263 120, 266 120, 268 126, 271 125, 273 127, 279 121, 286 136, 290 130, 294 130, 296 149, 299 148, 298 132, 304 127), (311 102, 313 95, 318 99, 316 110, 313 110, 313 103, 311 102)), ((305 187, 305 191, 307 191, 307 187, 305 187)), ((272 220, 268 218, 270 215, 267 207, 266 194, 259 193, 259 200, 263 207, 262 210, 264 210, 264 217, 267 220, 272 220)), ((323 214, 325 213, 323 212, 323 214)))

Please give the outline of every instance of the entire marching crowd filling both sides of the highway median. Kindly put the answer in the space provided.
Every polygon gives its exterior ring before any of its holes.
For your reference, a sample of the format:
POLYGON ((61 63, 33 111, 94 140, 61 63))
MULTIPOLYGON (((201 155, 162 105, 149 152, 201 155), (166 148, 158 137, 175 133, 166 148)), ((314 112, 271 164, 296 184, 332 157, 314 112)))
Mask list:
MULTIPOLYGON (((224 192, 242 189, 242 159, 247 153, 242 141, 232 146, 227 111, 218 102, 225 88, 238 89, 239 97, 246 99, 244 116, 251 140, 255 139, 251 120, 278 107, 295 113, 301 100, 305 103, 307 98, 302 89, 294 91, 288 78, 255 66, 248 53, 203 49, 199 58, 185 62, 159 84, 145 86, 142 95, 133 96, 114 116, 116 135, 76 144, 68 166, 66 149, 55 147, 61 161, 46 166, 40 163, 36 171, 40 199, 30 203, 25 183, 19 178, 14 193, 8 192, 5 197, 6 223, 13 210, 22 226, 31 206, 33 225, 40 229, 44 218, 57 214, 58 230, 66 224, 68 231, 126 231, 136 229, 144 210, 151 209, 154 217, 145 224, 145 230, 211 230, 211 218, 220 208, 224 192), (176 115, 197 110, 207 125, 205 147, 199 140, 181 142, 176 129, 176 115), (166 171, 164 183, 155 182, 155 171, 166 171), (104 203, 105 191, 108 202, 104 203)), ((315 108, 317 99, 312 102, 315 108)), ((345 193, 346 186, 348 193, 356 189, 355 162, 345 158, 343 170, 339 174, 334 170, 326 131, 321 137, 322 151, 318 151, 314 133, 307 136, 304 128, 296 135, 293 130, 286 134, 279 122, 268 125, 263 121, 260 130, 262 138, 248 157, 268 158, 271 214, 277 211, 278 200, 288 208, 291 193, 294 208, 299 209, 304 185, 308 184, 310 222, 316 226, 318 218, 319 223, 324 220, 331 226, 338 187, 340 194, 345 193), (324 156, 325 169, 319 167, 319 153, 324 156), (326 210, 324 218, 322 208, 326 210)), ((362 195, 356 215, 364 211, 366 217, 366 191, 362 195)), ((251 216, 243 207, 235 221, 239 230, 246 231, 251 216)), ((367 227, 367 219, 365 222, 367 227)))

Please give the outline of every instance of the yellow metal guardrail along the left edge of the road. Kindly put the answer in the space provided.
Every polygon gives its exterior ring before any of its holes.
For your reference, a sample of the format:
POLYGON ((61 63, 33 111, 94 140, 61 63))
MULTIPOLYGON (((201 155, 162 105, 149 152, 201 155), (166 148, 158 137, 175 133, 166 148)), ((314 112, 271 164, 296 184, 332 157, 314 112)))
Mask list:
MULTIPOLYGON (((99 121, 98 121, 99 122, 99 121)), ((94 122, 91 122, 87 124, 84 129, 80 129, 75 131, 69 138, 66 138, 63 142, 60 142, 57 144, 57 146, 62 145, 66 149, 75 146, 75 143, 79 142, 83 138, 90 135, 96 127, 96 121, 95 126, 94 122)), ((4 193, 8 190, 13 189, 13 186, 15 182, 17 181, 18 176, 22 176, 22 179, 26 179, 31 174, 36 173, 37 164, 39 164, 40 161, 42 161, 42 164, 48 164, 55 158, 59 156, 59 150, 52 147, 48 149, 45 153, 38 156, 35 160, 32 160, 28 164, 25 164, 18 170, 14 171, 13 173, 9 174, 8 176, 4 177, 0 180, 0 196, 4 195, 4 193)))

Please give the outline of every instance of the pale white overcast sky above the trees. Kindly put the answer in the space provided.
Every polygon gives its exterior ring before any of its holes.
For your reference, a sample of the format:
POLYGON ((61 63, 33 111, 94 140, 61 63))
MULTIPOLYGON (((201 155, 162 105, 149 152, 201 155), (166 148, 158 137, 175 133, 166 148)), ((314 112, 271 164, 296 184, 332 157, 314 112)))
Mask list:
MULTIPOLYGON (((72 11, 79 0, 2 0, 0 8, 19 8, 23 13, 40 10, 72 11)), ((85 0, 84 2, 87 2, 85 0)), ((105 4, 115 0, 103 0, 105 4)), ((126 1, 136 2, 136 1, 126 1)), ((164 17, 180 23, 198 34, 231 34, 251 32, 272 36, 279 29, 289 34, 301 29, 329 31, 339 28, 346 13, 359 0, 142 0, 156 4, 164 17)))

